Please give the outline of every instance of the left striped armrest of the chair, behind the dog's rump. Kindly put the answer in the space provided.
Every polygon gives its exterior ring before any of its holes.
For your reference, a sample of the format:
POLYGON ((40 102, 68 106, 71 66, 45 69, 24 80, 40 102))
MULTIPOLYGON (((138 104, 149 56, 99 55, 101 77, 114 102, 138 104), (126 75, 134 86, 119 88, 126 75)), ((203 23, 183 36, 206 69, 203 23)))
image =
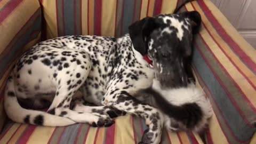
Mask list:
POLYGON ((13 61, 41 36, 41 8, 34 0, 0 1, 0 130, 4 123, 3 90, 13 61))

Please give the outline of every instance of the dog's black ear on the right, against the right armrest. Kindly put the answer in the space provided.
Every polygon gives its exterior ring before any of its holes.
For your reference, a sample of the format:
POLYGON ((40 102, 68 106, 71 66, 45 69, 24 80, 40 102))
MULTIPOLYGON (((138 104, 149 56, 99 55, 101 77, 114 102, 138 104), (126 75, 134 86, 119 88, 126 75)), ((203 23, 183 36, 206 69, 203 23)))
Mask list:
POLYGON ((187 17, 191 20, 191 26, 193 34, 197 34, 200 30, 202 18, 199 12, 197 11, 191 11, 191 12, 182 12, 180 13, 184 17, 187 17))

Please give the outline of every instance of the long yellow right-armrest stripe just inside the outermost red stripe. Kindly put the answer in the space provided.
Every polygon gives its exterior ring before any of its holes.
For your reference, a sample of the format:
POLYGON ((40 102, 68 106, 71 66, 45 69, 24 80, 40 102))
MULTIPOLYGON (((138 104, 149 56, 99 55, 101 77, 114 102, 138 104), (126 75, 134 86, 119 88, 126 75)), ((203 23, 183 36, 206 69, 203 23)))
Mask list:
MULTIPOLYGON (((201 17, 202 17, 202 21, 203 23, 205 23, 205 26, 207 29, 209 29, 210 33, 212 34, 212 36, 215 38, 215 40, 220 44, 220 46, 222 47, 222 49, 226 52, 226 54, 228 55, 228 57, 230 57, 231 60, 234 61, 235 65, 237 67, 239 67, 239 69, 241 69, 243 71, 243 73, 245 74, 245 76, 249 77, 249 79, 251 79, 251 82, 253 83, 253 85, 256 85, 256 77, 255 75, 252 73, 252 71, 247 68, 246 65, 244 65, 244 63, 239 60, 239 58, 237 57, 237 55, 230 49, 230 47, 228 46, 227 43, 225 43, 223 41, 223 39, 218 35, 217 31, 213 28, 213 26, 211 25, 211 22, 205 17, 205 15, 203 14, 203 11, 201 10, 201 8, 199 7, 199 5, 197 3, 193 3, 195 9, 201 13, 201 17)), ((187 5, 187 8, 189 11, 194 10, 193 7, 191 6, 191 4, 187 5)))

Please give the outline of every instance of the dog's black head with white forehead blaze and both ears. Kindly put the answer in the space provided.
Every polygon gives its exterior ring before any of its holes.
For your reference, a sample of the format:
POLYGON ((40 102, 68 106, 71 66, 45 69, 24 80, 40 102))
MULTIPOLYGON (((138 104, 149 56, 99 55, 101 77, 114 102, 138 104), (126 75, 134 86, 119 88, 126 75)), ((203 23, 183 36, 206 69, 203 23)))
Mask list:
POLYGON ((191 11, 147 17, 129 27, 134 49, 153 60, 156 78, 164 87, 187 86, 185 63, 200 25, 201 15, 191 11))

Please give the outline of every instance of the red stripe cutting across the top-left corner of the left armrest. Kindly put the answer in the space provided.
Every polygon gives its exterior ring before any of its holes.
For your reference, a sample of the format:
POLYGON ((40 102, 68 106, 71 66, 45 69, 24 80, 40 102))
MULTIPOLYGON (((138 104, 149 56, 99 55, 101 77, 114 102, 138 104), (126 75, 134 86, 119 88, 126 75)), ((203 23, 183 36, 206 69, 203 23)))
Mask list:
POLYGON ((0 23, 3 22, 9 14, 22 2, 22 0, 13 0, 0 12, 0 23))

